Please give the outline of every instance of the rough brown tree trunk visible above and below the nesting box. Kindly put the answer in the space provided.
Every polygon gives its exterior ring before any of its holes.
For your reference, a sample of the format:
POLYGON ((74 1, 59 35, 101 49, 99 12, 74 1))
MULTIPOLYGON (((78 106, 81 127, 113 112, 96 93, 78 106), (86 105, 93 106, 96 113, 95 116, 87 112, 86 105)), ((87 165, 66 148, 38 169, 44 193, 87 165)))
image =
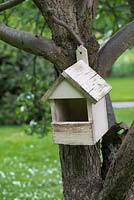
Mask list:
MULTIPOLYGON (((35 0, 35 3, 52 30, 53 40, 66 49, 70 64, 76 62, 77 41, 64 27, 53 22, 52 15, 65 22, 81 38, 88 50, 89 64, 95 68, 99 45, 92 36, 91 25, 97 1, 35 0)), ((60 145, 59 149, 65 199, 95 200, 102 188, 99 144, 95 146, 60 145)))

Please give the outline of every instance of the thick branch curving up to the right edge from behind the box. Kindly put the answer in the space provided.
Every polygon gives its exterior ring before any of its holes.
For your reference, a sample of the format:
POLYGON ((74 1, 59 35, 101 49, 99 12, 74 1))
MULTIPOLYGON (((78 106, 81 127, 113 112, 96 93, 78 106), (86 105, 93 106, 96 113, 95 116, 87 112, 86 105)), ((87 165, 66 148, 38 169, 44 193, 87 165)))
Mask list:
POLYGON ((101 76, 111 68, 117 58, 134 44, 134 21, 119 30, 113 37, 100 49, 98 55, 97 71, 101 76))

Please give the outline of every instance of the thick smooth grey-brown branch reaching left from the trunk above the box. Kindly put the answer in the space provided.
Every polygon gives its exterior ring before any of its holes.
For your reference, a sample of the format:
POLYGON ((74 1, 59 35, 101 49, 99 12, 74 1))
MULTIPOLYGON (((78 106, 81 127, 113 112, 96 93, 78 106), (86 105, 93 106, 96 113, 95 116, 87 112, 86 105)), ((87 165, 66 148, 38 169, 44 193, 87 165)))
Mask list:
POLYGON ((18 31, 4 24, 0 24, 0 40, 28 53, 42 56, 58 65, 61 70, 67 67, 67 63, 68 66, 72 64, 65 50, 56 46, 53 40, 18 31))

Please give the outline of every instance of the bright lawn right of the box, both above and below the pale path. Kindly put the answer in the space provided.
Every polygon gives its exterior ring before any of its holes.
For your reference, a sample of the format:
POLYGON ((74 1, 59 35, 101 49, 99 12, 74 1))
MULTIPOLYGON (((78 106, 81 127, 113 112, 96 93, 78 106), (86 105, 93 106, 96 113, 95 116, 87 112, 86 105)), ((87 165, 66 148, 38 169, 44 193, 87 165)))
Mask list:
MULTIPOLYGON (((134 101, 134 78, 107 78, 112 85, 112 101, 134 101)), ((134 120, 134 108, 114 108, 117 122, 124 121, 129 126, 134 120)))

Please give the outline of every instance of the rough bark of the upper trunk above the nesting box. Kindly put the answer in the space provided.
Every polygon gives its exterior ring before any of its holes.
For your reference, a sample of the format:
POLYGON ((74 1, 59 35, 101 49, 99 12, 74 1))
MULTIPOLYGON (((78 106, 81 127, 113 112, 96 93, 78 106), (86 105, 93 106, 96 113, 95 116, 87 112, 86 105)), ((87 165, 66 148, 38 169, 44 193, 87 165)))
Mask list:
POLYGON ((45 20, 47 20, 52 31, 53 40, 57 45, 67 50, 70 60, 76 61, 75 50, 77 48, 77 41, 74 40, 65 27, 53 22, 53 16, 56 16, 59 20, 66 23, 81 38, 85 47, 88 49, 89 64, 95 67, 97 65, 99 45, 95 37, 92 36, 91 27, 98 0, 93 0, 90 6, 87 3, 83 6, 84 2, 88 2, 87 0, 34 0, 34 2, 40 9, 45 20), (81 9, 82 7, 84 8, 81 9))

